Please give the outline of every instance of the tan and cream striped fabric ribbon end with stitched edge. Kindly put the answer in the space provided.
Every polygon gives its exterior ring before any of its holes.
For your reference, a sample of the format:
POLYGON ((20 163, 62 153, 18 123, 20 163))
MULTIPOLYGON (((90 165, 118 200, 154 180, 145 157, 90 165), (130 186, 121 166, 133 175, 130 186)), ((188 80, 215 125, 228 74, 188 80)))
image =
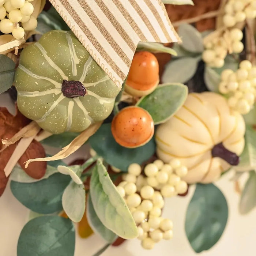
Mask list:
POLYGON ((177 42, 161 0, 50 0, 95 61, 121 88, 142 42, 177 42))

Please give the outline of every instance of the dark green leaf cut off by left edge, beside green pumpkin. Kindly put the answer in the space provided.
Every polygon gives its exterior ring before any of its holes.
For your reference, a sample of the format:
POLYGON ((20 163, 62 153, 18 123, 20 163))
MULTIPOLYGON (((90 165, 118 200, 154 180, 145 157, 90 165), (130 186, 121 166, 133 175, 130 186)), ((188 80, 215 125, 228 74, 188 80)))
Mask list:
POLYGON ((9 57, 0 54, 0 93, 8 90, 13 83, 15 63, 9 57))

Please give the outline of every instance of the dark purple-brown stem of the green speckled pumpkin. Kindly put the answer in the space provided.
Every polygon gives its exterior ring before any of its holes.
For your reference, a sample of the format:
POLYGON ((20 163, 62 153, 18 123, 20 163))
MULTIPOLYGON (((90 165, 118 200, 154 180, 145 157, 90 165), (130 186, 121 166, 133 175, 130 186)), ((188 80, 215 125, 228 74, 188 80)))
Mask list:
POLYGON ((84 85, 79 81, 63 80, 61 91, 67 98, 83 97, 88 94, 84 85))

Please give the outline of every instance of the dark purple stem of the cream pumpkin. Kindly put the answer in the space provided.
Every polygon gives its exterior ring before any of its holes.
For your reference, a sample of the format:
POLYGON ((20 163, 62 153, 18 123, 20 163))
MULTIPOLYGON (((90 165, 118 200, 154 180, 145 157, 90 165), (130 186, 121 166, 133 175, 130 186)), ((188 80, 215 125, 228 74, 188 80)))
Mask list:
POLYGON ((211 150, 212 157, 220 157, 230 165, 238 165, 240 157, 237 154, 227 150, 222 143, 215 145, 211 150))

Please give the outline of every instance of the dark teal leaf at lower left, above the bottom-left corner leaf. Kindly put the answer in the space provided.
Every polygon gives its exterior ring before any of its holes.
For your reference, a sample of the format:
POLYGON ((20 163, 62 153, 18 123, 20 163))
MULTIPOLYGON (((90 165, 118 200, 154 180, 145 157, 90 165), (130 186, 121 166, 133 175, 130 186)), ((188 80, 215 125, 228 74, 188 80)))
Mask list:
POLYGON ((11 191, 30 210, 49 214, 62 210, 61 197, 70 180, 70 176, 55 173, 34 183, 11 181, 11 191))

